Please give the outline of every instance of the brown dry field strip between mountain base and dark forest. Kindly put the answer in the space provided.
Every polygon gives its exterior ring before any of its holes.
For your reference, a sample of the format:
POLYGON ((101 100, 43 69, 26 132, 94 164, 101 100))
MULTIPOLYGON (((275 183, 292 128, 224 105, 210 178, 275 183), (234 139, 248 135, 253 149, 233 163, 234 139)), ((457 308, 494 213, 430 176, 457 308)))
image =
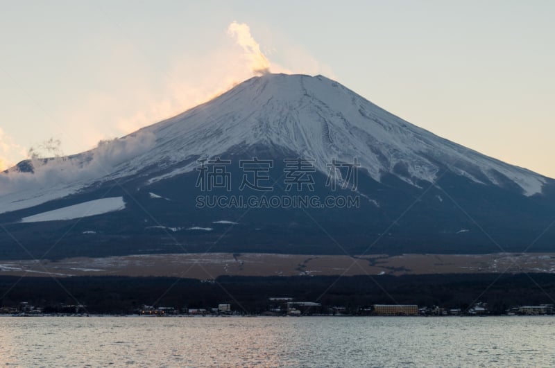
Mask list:
POLYGON ((0 275, 28 277, 131 276, 215 279, 221 275, 402 275, 555 273, 555 254, 148 254, 60 261, 0 261, 0 275))

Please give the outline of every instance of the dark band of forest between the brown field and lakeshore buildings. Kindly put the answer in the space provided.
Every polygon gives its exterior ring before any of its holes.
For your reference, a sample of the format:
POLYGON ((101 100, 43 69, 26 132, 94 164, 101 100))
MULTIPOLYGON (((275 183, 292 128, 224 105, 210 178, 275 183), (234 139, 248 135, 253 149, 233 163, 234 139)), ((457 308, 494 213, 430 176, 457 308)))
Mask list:
MULTIPOLYGON (((321 310, 357 314, 372 304, 418 304, 466 310, 477 301, 502 314, 520 305, 553 304, 554 274, 447 274, 357 277, 219 277, 216 281, 167 277, 0 277, 0 307, 28 302, 45 312, 84 304, 87 313, 129 314, 142 305, 214 308, 231 304, 257 314, 269 297, 316 301, 321 310), (3 297, 1 297, 3 296, 3 297)), ((317 312, 317 310, 315 310, 317 312)))

